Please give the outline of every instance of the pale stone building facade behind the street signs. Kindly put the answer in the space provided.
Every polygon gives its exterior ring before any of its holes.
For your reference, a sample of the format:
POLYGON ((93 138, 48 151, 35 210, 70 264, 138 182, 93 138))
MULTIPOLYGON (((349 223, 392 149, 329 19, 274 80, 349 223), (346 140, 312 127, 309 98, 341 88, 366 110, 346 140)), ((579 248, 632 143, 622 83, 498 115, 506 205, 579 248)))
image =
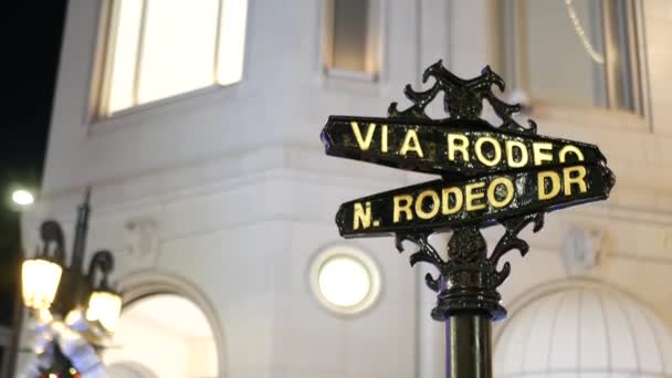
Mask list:
POLYGON ((411 270, 390 238, 344 241, 334 223, 342 202, 427 177, 328 158, 318 135, 328 115, 405 104, 405 85, 423 87, 439 59, 462 77, 491 64, 510 86, 503 97, 523 101, 540 134, 600 146, 617 176, 607 202, 549 214, 525 234, 531 253, 508 258, 495 375, 672 376, 670 32, 665 0, 71 0, 24 245, 46 217, 72 230, 91 186, 90 249, 114 251, 127 304, 169 293, 202 311, 216 376, 440 377, 443 326, 429 316, 426 269, 411 270), (314 270, 329 253, 370 269, 361 306, 323 303, 314 270), (563 290, 588 294, 558 298, 563 290), (540 327, 582 329, 588 315, 577 314, 594 314, 581 304, 601 303, 598 292, 618 293, 605 297, 634 314, 588 337, 605 340, 602 357, 553 359, 587 336, 554 342, 558 328, 535 342, 516 323, 516 313, 540 314, 529 323, 557 316, 540 327), (542 311, 542 300, 579 309, 542 311), (613 363, 609 335, 638 335, 641 324, 660 335, 655 353, 640 343, 641 358, 613 363), (533 343, 523 354, 555 346, 544 364, 512 367, 502 350, 515 337, 533 343))

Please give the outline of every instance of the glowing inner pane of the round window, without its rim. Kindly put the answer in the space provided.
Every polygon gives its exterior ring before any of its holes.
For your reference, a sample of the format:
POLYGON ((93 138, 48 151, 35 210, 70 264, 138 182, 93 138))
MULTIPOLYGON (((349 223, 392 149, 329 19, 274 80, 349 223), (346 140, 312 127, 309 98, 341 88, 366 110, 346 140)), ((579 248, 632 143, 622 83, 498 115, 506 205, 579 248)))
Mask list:
POLYGON ((332 304, 351 307, 366 300, 371 279, 364 264, 350 256, 327 260, 318 273, 319 291, 332 304))

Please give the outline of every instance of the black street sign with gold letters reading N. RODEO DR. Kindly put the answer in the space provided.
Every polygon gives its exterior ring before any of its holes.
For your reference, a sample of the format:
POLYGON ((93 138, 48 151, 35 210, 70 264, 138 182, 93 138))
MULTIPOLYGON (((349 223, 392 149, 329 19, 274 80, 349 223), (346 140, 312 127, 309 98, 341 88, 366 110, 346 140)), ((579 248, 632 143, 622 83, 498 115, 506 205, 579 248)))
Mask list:
POLYGON ((612 186, 613 176, 602 162, 434 180, 346 202, 338 209, 336 224, 346 238, 487 227, 516 216, 602 200, 612 186))

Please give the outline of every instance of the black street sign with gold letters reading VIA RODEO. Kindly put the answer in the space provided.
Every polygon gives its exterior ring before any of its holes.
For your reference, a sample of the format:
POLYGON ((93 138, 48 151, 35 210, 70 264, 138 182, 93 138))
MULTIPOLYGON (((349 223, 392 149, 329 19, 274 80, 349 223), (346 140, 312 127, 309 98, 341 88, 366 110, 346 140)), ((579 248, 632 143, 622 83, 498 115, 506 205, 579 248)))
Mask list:
POLYGON ((482 119, 330 116, 322 140, 327 155, 443 177, 605 160, 594 145, 497 129, 482 119))

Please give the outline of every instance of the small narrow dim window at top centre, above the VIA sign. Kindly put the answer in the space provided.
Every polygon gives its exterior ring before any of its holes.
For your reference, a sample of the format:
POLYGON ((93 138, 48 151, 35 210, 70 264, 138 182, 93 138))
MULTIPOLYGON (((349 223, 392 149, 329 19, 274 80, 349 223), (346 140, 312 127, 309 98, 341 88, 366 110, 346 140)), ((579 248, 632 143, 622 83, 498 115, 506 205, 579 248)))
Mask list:
POLYGON ((380 61, 378 0, 325 1, 325 70, 377 75, 380 61))

